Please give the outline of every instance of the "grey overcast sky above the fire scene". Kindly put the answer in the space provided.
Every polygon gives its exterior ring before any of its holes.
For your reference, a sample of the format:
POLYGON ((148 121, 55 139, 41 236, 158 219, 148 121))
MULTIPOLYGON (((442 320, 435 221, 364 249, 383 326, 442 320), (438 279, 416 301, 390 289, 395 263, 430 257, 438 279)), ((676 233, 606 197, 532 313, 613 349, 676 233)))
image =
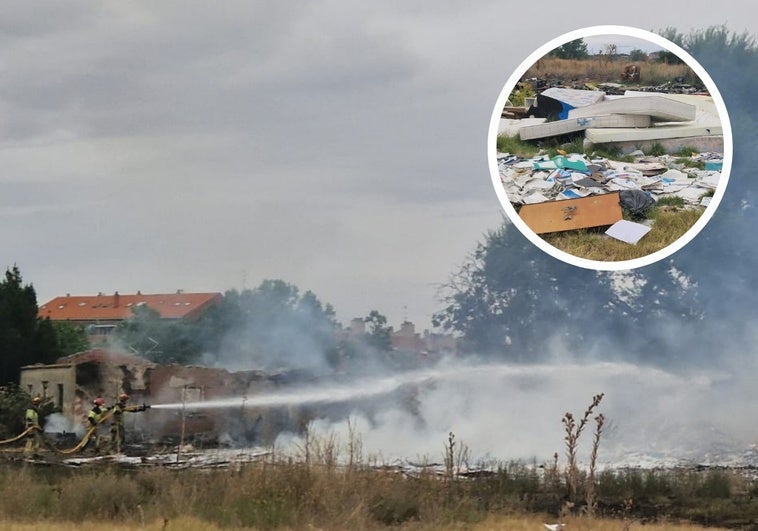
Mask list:
POLYGON ((522 60, 599 24, 758 32, 746 1, 357 4, 3 2, 2 265, 40 303, 281 278, 428 328, 500 222, 487 129, 522 60))

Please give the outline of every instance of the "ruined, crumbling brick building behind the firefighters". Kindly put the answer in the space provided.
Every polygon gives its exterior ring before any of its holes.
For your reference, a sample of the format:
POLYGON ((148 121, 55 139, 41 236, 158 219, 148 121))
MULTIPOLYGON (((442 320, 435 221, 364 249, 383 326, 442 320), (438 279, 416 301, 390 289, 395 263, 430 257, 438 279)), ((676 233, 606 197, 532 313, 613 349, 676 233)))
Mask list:
POLYGON ((21 368, 21 387, 50 400, 69 421, 70 430, 86 423, 93 400, 106 406, 127 393, 136 404, 182 404, 127 415, 127 442, 269 443, 297 423, 290 409, 248 408, 244 397, 274 390, 296 376, 261 371, 230 372, 211 367, 158 365, 136 356, 93 349, 59 358, 51 365, 21 368), (237 408, 196 409, 194 403, 241 397, 237 408))

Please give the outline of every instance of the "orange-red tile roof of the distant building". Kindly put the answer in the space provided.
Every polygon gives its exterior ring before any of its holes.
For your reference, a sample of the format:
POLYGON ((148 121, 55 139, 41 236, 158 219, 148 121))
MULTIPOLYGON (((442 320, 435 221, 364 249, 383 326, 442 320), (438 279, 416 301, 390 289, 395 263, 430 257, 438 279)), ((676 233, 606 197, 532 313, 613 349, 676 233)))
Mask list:
POLYGON ((171 293, 148 295, 66 295, 39 307, 39 317, 52 321, 121 321, 131 317, 132 308, 146 305, 164 319, 197 317, 222 298, 220 293, 171 293))

